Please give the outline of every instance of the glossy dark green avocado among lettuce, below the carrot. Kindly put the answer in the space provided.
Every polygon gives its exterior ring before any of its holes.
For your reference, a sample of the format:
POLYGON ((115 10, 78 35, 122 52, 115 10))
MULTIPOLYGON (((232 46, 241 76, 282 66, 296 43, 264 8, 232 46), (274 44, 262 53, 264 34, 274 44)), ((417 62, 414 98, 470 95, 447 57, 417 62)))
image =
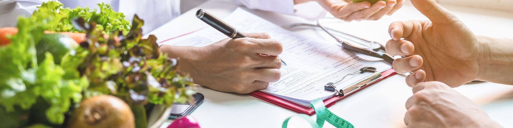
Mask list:
POLYGON ((78 44, 75 40, 66 35, 60 33, 44 34, 35 47, 37 63, 45 59, 45 52, 50 52, 53 55, 54 62, 60 65, 61 58, 76 47, 78 47, 78 44))

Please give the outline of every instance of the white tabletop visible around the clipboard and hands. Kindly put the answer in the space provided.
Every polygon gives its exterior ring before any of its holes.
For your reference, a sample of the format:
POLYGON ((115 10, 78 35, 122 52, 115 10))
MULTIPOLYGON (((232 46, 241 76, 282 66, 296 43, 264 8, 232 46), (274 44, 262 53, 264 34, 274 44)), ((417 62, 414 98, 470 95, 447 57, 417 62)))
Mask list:
MULTIPOLYGON (((513 38, 513 12, 442 6, 455 13, 475 34, 513 38)), ((194 16, 195 11, 200 8, 223 18, 237 6, 226 1, 209 1, 171 20, 161 28, 150 32, 150 34, 156 35, 159 40, 164 40, 207 27, 205 23, 194 16)), ((312 23, 290 15, 258 10, 248 11, 279 26, 287 26, 293 23, 312 23)), ((324 19, 322 21, 324 21, 326 27, 384 43, 390 39, 387 32, 390 23, 425 19, 427 18, 407 2, 402 9, 392 16, 384 16, 378 21, 350 23, 336 19, 324 19)), ((333 41, 323 32, 314 29, 294 29, 292 31, 312 38, 333 41)), ((404 75, 394 75, 338 101, 328 109, 356 127, 405 127, 403 123, 406 112, 404 104, 412 93, 404 79, 404 75)), ((511 109, 513 108, 513 98, 491 102, 487 100, 513 91, 513 86, 484 82, 468 84, 455 88, 455 90, 482 105, 482 108, 493 120, 504 127, 513 127, 513 121, 511 121, 513 118, 510 116, 513 115, 513 109, 511 109)), ((283 120, 297 114, 249 95, 225 93, 207 88, 200 88, 198 92, 205 95, 205 101, 191 116, 196 118, 202 127, 206 128, 281 127, 283 120)), ((312 119, 315 119, 315 115, 312 116, 312 119)), ((165 126, 163 125, 163 127, 165 126)), ((293 118, 289 122, 289 127, 309 127, 309 125, 300 118, 293 118)), ((325 123, 324 127, 333 126, 325 123)))

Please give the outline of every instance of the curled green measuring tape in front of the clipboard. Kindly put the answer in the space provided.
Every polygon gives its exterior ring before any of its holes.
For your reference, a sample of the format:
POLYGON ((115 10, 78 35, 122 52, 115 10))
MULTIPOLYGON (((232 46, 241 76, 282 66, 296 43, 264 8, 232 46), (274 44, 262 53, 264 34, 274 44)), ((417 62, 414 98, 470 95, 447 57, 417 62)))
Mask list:
MULTIPOLYGON (((313 100, 312 102, 310 102, 310 105, 312 106, 313 111, 315 111, 315 114, 317 114, 316 122, 313 122, 313 120, 310 118, 310 116, 308 116, 306 114, 298 114, 295 116, 299 116, 299 117, 307 120, 310 123, 310 125, 312 125, 313 128, 322 127, 324 125, 325 120, 328 121, 328 123, 330 123, 331 125, 333 125, 335 127, 354 128, 354 126, 351 123, 347 122, 346 120, 344 120, 344 119, 340 118, 339 116, 330 112, 328 110, 328 108, 326 108, 326 106, 324 106, 324 102, 322 102, 321 98, 313 100)), ((288 121, 292 117, 294 117, 294 116, 291 116, 291 117, 285 119, 285 121, 283 121, 282 128, 287 128, 288 121)))

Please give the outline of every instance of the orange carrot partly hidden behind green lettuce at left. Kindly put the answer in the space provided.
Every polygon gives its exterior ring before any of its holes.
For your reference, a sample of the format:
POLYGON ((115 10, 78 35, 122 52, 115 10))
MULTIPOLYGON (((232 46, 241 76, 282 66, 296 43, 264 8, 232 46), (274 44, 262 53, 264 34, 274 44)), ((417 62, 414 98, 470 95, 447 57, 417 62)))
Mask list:
MULTIPOLYGON (((18 33, 18 29, 14 27, 0 28, 0 46, 5 46, 11 43, 11 40, 7 36, 12 36, 18 33)), ((52 31, 45 31, 45 33, 55 33, 52 31)), ((73 33, 73 32, 60 32, 63 35, 71 37, 77 43, 83 42, 86 39, 85 33, 73 33)))

